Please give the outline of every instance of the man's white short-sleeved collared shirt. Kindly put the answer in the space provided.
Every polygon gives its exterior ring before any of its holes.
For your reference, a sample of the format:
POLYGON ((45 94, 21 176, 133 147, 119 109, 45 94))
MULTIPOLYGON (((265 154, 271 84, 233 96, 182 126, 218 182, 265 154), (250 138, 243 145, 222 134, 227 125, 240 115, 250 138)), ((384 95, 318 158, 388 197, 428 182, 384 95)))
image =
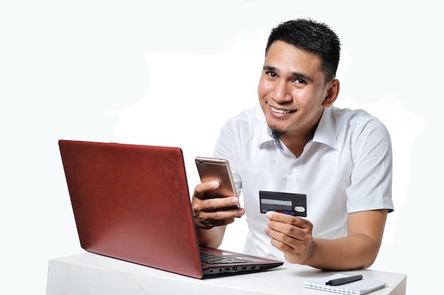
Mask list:
POLYGON ((259 191, 306 194, 313 237, 347 235, 348 213, 387 208, 392 202, 392 144, 385 126, 362 110, 331 106, 299 158, 268 133, 260 106, 230 118, 214 157, 230 161, 249 233, 244 251, 284 259, 264 233, 259 191))

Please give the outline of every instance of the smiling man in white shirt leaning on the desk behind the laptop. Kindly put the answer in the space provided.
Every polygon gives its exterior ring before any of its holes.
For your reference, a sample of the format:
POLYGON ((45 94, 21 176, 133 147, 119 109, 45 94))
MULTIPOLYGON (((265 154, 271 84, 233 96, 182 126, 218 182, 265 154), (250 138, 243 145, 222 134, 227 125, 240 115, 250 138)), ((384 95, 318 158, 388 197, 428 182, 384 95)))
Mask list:
POLYGON ((272 30, 260 107, 231 118, 213 153, 230 161, 245 208, 232 208, 235 196, 205 199, 217 182, 197 185, 201 245, 218 247, 226 225, 245 214, 245 252, 319 269, 372 265, 394 209, 392 145, 377 118, 333 106, 339 57, 340 41, 323 23, 296 19, 272 30), (306 194, 306 218, 260 213, 259 191, 306 194))

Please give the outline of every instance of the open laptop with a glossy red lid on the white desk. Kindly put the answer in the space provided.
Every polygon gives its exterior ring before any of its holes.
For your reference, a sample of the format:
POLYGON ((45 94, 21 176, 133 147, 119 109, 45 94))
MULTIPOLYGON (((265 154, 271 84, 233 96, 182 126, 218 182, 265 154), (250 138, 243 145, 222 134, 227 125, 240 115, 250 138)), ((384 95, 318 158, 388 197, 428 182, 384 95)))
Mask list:
POLYGON ((84 250, 197 279, 283 265, 199 247, 179 147, 58 143, 84 250))

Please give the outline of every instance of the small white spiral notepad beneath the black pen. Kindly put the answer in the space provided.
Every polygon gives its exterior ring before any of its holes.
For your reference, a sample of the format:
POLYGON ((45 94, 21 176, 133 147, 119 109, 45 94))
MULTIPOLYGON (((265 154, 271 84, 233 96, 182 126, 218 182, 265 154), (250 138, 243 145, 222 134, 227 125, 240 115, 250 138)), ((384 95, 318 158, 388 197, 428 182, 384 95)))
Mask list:
POLYGON ((384 288, 384 286, 387 284, 386 282, 376 281, 373 279, 365 279, 365 278, 356 282, 351 282, 348 284, 342 284, 338 286, 328 286, 326 284, 326 282, 330 281, 331 279, 340 279, 343 277, 350 277, 350 276, 346 274, 333 274, 329 277, 311 279, 309 281, 304 282, 304 287, 310 289, 322 290, 322 291, 329 291, 338 294, 360 295, 360 294, 368 294, 377 289, 384 288))

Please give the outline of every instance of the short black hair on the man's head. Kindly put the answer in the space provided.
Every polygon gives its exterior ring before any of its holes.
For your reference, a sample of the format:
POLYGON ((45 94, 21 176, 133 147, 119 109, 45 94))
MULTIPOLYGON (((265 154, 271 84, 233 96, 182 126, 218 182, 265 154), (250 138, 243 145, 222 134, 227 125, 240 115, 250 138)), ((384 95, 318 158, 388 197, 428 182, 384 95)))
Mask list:
POLYGON ((279 23, 270 33, 265 55, 277 40, 318 55, 321 58, 321 71, 326 83, 335 79, 340 58, 340 40, 325 23, 310 18, 279 23))

